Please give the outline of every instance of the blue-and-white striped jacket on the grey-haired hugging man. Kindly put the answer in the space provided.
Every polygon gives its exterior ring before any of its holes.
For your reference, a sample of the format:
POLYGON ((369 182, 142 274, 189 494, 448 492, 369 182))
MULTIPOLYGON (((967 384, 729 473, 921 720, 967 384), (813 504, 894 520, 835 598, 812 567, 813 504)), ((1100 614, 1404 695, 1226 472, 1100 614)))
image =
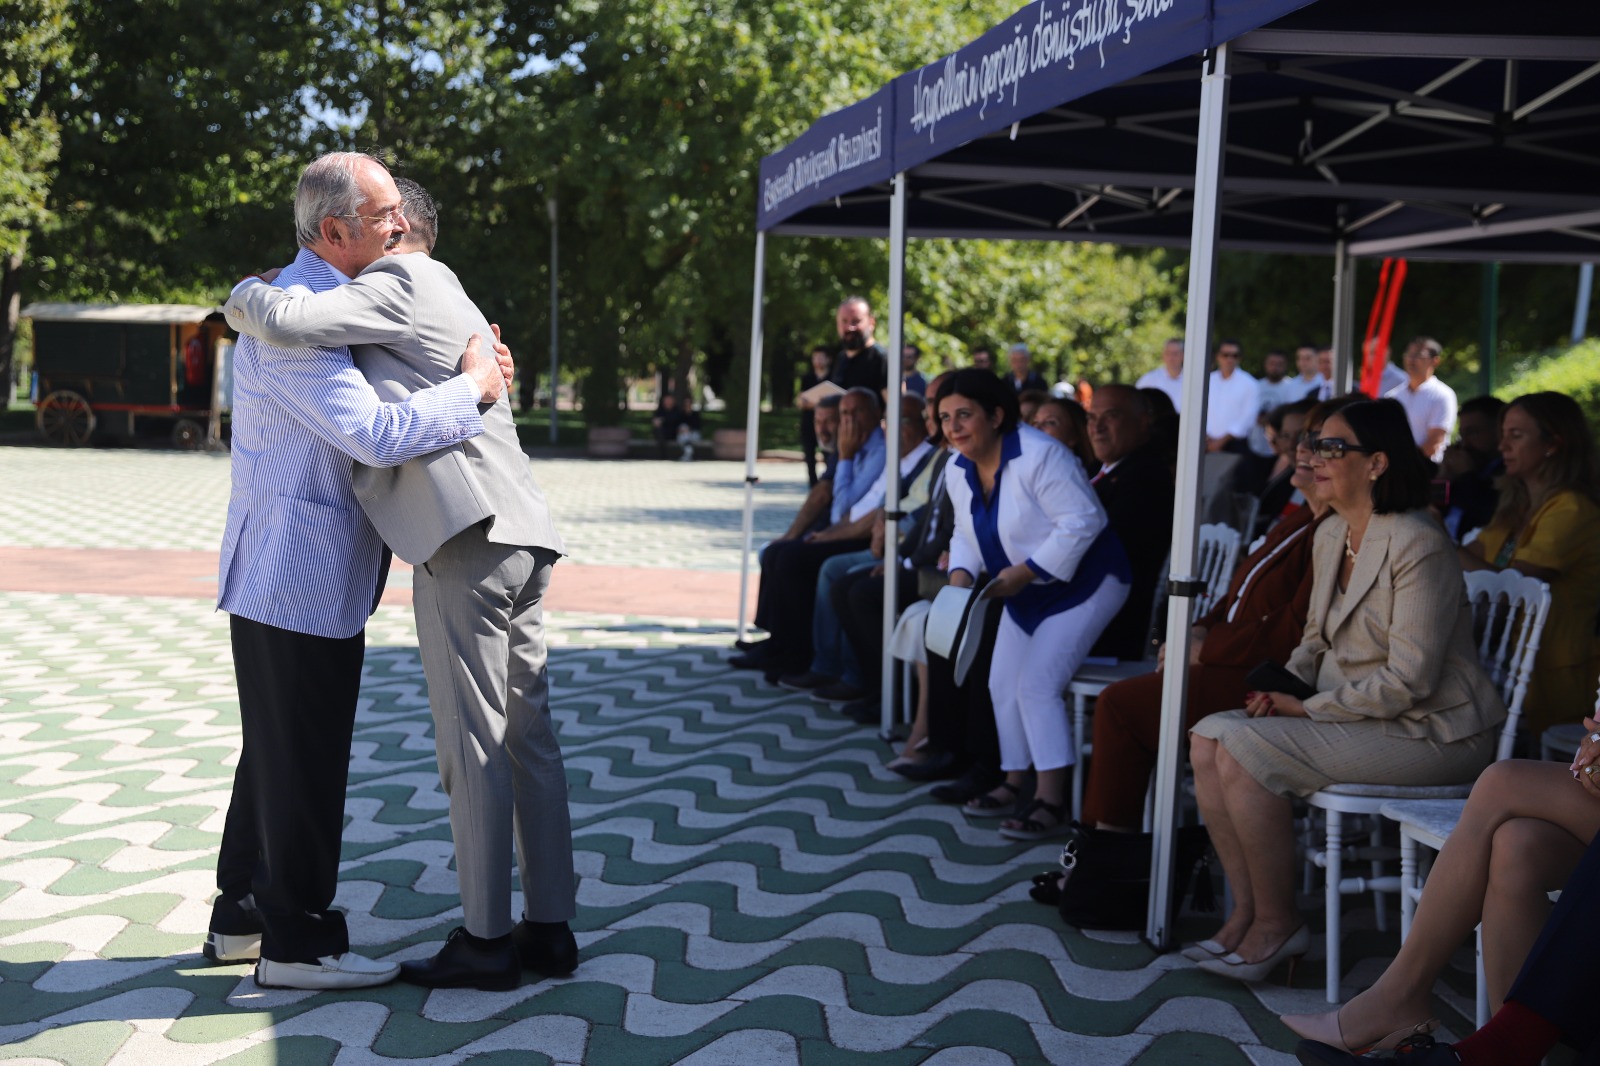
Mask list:
MULTIPOLYGON (((277 279, 322 293, 350 279, 301 248, 277 279)), ((317 637, 352 637, 373 611, 382 541, 350 491, 350 463, 398 466, 483 432, 467 375, 384 403, 347 347, 234 349, 232 493, 218 608, 317 637)))

